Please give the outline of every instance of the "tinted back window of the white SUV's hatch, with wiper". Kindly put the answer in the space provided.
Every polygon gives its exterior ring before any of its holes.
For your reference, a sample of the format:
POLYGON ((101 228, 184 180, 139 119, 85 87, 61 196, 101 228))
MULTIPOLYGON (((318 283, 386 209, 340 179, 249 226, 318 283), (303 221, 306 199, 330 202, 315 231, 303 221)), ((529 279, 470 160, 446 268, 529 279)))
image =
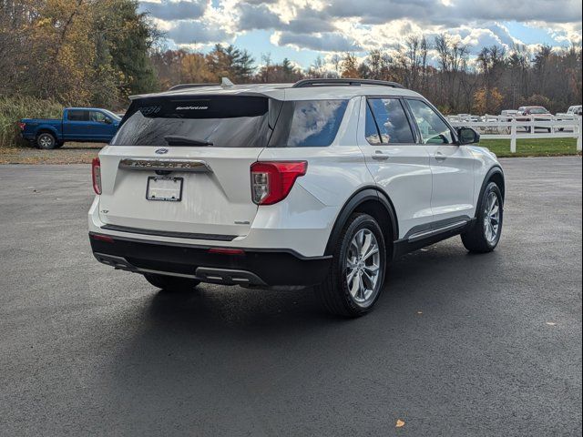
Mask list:
POLYGON ((267 97, 181 97, 132 103, 112 146, 266 147, 267 97))

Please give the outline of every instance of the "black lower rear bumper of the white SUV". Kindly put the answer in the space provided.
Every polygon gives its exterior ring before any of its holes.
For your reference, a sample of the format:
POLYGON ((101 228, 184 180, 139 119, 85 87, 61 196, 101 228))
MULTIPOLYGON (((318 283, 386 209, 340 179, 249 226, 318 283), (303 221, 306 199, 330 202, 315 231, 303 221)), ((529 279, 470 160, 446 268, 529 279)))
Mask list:
POLYGON ((128 239, 95 232, 89 232, 89 240, 97 260, 116 269, 225 285, 312 286, 325 279, 332 260, 332 257, 306 258, 285 249, 212 253, 209 246, 128 239))

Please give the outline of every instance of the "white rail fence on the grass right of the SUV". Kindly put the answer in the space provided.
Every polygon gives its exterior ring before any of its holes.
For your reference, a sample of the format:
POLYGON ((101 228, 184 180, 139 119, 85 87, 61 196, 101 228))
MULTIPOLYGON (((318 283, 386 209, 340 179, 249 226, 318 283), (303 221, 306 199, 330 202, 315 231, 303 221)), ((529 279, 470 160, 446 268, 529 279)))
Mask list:
POLYGON ((577 149, 583 146, 583 125, 581 117, 551 117, 535 121, 534 117, 484 116, 483 121, 470 117, 449 116, 454 127, 473 127, 485 139, 510 139, 510 152, 517 152, 517 139, 521 138, 577 138, 577 149), (528 121, 525 121, 528 120, 528 121), (540 132, 540 130, 547 132, 540 132))

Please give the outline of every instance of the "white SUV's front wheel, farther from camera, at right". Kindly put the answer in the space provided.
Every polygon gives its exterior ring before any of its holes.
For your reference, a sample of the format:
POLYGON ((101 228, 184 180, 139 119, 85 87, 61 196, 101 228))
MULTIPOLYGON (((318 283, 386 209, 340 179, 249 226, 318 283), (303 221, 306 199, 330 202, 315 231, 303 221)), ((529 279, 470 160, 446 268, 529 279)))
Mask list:
POLYGON ((478 204, 476 222, 462 234, 465 249, 486 253, 496 249, 502 235, 504 201, 500 188, 489 182, 478 204))

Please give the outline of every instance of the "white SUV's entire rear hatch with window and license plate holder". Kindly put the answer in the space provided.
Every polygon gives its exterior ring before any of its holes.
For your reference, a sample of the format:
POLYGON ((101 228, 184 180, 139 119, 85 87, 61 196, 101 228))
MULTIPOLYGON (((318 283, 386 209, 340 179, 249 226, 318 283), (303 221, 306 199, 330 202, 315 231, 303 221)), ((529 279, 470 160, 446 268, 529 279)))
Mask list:
POLYGON ((271 135, 259 96, 135 100, 99 154, 107 229, 230 240, 257 213, 250 167, 271 135))

